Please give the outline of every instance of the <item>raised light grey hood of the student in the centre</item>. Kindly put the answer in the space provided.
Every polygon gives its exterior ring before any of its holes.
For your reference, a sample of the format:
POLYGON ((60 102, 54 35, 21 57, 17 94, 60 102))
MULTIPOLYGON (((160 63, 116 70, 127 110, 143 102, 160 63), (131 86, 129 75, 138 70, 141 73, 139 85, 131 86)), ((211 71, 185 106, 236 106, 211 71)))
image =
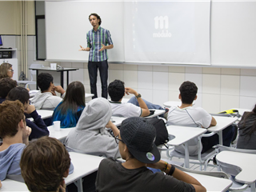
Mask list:
POLYGON ((82 111, 76 130, 105 130, 110 121, 112 110, 110 102, 106 98, 94 98, 82 111))

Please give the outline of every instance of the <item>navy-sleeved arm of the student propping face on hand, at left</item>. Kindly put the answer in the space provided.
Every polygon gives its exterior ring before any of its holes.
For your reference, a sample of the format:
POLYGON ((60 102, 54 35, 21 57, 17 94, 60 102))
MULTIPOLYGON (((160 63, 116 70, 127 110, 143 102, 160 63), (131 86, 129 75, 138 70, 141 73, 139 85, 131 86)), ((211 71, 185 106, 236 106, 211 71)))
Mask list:
POLYGON ((30 140, 32 138, 41 138, 42 136, 49 135, 49 130, 47 129, 45 122, 43 122, 41 116, 38 115, 38 112, 35 110, 34 106, 29 105, 25 113, 30 114, 34 119, 34 122, 30 122, 30 120, 26 119, 26 126, 29 126, 32 129, 30 140))

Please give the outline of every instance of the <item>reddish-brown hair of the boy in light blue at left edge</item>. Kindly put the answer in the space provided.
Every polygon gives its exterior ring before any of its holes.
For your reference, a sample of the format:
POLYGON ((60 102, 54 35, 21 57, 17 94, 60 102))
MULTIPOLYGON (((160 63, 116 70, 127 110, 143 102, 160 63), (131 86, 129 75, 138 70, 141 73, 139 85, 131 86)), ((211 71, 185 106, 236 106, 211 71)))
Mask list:
POLYGON ((23 119, 24 106, 19 101, 4 101, 0 104, 0 137, 14 137, 18 132, 18 123, 23 119))

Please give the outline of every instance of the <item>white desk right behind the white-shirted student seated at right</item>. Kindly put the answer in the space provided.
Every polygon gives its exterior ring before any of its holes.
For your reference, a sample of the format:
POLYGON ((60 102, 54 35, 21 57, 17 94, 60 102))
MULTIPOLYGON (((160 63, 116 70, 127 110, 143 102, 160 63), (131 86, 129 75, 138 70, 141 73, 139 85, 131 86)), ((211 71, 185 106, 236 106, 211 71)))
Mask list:
POLYGON ((170 146, 180 146, 185 145, 185 167, 190 168, 190 154, 188 141, 192 138, 197 138, 198 136, 206 133, 206 129, 190 127, 190 126, 167 126, 168 134, 173 135, 175 138, 167 142, 170 146))

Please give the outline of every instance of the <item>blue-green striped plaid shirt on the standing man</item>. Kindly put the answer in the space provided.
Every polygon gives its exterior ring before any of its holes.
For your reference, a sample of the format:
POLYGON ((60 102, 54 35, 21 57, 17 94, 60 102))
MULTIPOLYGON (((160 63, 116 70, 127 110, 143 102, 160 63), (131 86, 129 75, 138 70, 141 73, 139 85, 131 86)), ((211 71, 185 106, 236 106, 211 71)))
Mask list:
POLYGON ((102 48, 102 44, 107 46, 113 45, 110 31, 98 26, 98 30, 89 30, 87 35, 87 47, 90 47, 89 61, 90 62, 102 62, 108 59, 106 50, 98 51, 102 48))

